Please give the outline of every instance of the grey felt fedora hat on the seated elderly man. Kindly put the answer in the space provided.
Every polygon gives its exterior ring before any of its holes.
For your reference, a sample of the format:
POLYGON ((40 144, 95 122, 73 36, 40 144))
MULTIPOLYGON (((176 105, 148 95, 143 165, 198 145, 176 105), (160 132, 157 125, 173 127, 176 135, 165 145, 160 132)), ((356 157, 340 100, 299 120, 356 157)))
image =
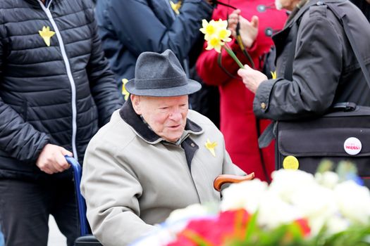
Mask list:
POLYGON ((125 89, 138 96, 183 96, 199 91, 201 84, 187 79, 178 58, 171 50, 144 52, 137 58, 135 79, 125 89))

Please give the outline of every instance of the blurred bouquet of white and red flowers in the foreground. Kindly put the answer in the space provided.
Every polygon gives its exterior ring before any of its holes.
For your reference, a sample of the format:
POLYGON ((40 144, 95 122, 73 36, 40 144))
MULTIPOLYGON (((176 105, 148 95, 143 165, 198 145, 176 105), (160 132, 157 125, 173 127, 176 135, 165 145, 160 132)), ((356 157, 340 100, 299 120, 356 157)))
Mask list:
POLYGON ((332 171, 273 172, 223 191, 219 212, 175 210, 159 233, 138 245, 370 245, 370 193, 332 171))

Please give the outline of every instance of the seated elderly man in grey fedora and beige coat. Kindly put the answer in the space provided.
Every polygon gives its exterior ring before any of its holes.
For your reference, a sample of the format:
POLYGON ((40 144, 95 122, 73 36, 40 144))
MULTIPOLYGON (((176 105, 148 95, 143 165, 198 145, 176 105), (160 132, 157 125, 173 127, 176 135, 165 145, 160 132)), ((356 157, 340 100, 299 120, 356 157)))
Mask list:
POLYGON ((101 243, 126 245, 155 229, 174 209, 219 201, 219 174, 243 174, 223 135, 187 95, 187 79, 172 51, 144 52, 121 110, 90 141, 81 181, 87 219, 101 243))

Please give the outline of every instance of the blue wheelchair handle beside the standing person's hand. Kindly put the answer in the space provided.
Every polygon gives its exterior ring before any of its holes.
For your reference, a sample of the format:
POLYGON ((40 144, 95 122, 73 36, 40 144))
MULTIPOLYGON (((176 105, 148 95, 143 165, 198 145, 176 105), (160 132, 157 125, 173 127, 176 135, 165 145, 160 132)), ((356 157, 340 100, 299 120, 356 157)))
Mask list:
POLYGON ((78 163, 75 158, 65 155, 68 164, 73 169, 73 179, 75 184, 75 195, 77 198, 77 205, 78 205, 78 217, 80 219, 80 235, 87 235, 89 234, 89 229, 87 227, 87 220, 86 220, 86 203, 85 199, 81 195, 80 191, 80 183, 81 183, 81 176, 82 176, 82 169, 80 163, 78 163))

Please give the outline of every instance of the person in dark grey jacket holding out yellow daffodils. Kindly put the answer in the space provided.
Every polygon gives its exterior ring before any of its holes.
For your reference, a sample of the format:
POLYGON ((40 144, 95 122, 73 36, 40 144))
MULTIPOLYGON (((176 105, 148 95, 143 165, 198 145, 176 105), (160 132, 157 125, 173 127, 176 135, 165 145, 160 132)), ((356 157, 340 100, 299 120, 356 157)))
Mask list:
POLYGON ((285 28, 273 36, 277 78, 245 66, 238 70, 247 88, 255 93, 254 113, 275 120, 323 115, 331 105, 353 102, 370 106, 364 73, 346 38, 340 20, 326 6, 338 6, 367 69, 370 68, 370 25, 347 0, 277 0, 292 11, 285 28))

